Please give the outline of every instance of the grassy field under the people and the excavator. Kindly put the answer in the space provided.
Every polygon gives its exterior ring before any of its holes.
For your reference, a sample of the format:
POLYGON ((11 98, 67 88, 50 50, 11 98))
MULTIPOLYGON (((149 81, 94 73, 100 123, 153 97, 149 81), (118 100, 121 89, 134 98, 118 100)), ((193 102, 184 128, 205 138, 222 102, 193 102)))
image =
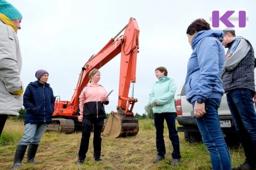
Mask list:
MULTIPOLYGON (((153 164, 157 156, 155 129, 153 120, 139 120, 140 131, 137 136, 113 139, 102 136, 102 160, 93 159, 93 144, 90 146, 84 164, 77 165, 77 155, 81 132, 63 134, 46 132, 41 140, 36 155, 40 164, 24 164, 20 170, 211 170, 209 153, 204 144, 184 141, 184 134, 179 133, 182 163, 171 165, 172 144, 169 141, 165 125, 166 159, 153 164)), ((10 170, 17 143, 22 137, 23 122, 8 120, 0 137, 0 169, 10 170)), ((241 146, 230 147, 232 166, 243 163, 244 153, 241 146)), ((23 159, 26 163, 26 154, 23 159)))

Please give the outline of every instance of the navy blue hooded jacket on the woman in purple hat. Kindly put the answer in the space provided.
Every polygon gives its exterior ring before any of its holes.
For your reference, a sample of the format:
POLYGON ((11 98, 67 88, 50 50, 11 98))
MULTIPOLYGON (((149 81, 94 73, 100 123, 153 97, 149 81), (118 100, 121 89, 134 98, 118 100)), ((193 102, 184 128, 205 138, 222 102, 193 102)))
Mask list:
POLYGON ((55 97, 48 83, 31 82, 23 95, 23 106, 26 108, 25 125, 40 122, 51 123, 55 97))

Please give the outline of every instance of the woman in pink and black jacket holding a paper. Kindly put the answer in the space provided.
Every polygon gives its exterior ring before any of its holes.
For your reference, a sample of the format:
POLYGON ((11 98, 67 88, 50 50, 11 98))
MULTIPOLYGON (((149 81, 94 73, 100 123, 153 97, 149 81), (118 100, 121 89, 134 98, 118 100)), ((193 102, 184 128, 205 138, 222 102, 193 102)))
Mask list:
POLYGON ((100 72, 93 69, 89 74, 90 81, 82 90, 79 96, 80 115, 78 121, 82 122, 82 138, 79 149, 79 159, 77 164, 84 163, 86 153, 89 147, 90 133, 94 126, 93 133, 93 157, 95 161, 101 161, 101 131, 104 125, 106 113, 104 105, 108 105, 107 91, 98 82, 100 80, 100 72))

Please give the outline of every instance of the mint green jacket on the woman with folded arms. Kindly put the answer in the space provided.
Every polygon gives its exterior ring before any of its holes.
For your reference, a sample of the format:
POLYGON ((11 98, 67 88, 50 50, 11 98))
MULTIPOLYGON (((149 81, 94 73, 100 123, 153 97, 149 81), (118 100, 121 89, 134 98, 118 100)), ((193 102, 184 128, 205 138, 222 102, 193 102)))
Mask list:
POLYGON ((153 106, 153 113, 176 112, 174 101, 176 88, 174 79, 168 77, 161 82, 155 82, 149 94, 149 102, 153 106), (154 105, 154 100, 157 101, 157 105, 154 105))

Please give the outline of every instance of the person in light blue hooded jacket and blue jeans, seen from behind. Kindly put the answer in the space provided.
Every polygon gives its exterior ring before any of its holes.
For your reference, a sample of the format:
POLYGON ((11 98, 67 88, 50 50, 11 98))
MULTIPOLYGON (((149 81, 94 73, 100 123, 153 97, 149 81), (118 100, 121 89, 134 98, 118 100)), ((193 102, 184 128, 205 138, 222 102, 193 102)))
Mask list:
POLYGON ((186 99, 194 109, 213 170, 231 170, 230 153, 218 117, 218 108, 224 94, 221 82, 225 57, 221 41, 224 34, 223 31, 210 29, 204 19, 193 21, 186 34, 193 50, 187 66, 186 99))

